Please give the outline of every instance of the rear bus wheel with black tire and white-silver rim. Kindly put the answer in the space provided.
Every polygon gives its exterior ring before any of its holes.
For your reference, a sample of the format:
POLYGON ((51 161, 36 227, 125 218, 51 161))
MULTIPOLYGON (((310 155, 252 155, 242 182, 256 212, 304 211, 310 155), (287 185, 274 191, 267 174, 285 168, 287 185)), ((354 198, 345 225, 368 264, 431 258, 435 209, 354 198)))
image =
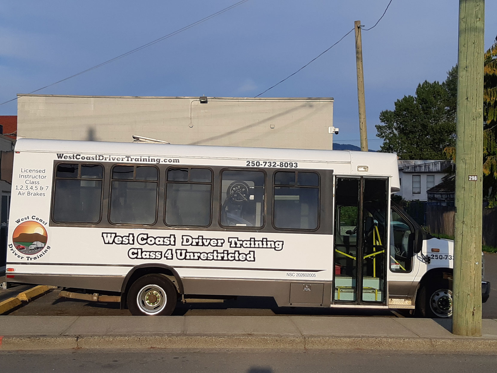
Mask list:
POLYGON ((132 315, 168 316, 176 307, 178 293, 166 276, 150 274, 133 282, 126 299, 132 315))

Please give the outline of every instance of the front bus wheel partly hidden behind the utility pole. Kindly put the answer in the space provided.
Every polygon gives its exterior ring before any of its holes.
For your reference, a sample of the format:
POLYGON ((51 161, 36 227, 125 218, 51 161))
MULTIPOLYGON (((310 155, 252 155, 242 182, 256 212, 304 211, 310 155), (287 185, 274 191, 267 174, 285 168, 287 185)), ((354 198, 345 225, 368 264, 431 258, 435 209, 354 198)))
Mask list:
POLYGON ((452 317, 452 289, 449 280, 428 279, 416 295, 416 315, 427 318, 452 317))

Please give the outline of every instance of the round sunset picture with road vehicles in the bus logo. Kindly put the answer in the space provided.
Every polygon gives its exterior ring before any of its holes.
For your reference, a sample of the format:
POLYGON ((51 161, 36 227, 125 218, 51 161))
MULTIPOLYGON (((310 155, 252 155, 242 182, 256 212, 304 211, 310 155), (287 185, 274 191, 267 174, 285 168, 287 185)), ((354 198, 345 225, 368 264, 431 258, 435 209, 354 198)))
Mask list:
POLYGON ((14 229, 12 241, 15 248, 24 255, 38 254, 47 244, 47 231, 36 221, 25 221, 14 229))

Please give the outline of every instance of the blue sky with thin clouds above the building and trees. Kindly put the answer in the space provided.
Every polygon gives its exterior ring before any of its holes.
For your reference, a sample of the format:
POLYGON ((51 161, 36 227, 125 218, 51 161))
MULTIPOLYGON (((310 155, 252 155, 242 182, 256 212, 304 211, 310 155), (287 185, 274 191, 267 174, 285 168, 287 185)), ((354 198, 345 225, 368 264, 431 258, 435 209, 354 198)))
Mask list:
MULTIPOLYGON (((217 1, 2 1, 0 102, 64 79, 234 4, 217 1)), ((38 93, 255 96, 331 46, 389 0, 249 0, 198 26, 38 93)), ((485 48, 497 35, 487 1, 485 48)), ((369 147, 379 113, 443 81, 457 62, 458 1, 393 0, 363 31, 369 147)), ((359 145, 353 33, 265 97, 334 97, 333 140, 359 145)), ((15 115, 16 101, 0 106, 15 115)))

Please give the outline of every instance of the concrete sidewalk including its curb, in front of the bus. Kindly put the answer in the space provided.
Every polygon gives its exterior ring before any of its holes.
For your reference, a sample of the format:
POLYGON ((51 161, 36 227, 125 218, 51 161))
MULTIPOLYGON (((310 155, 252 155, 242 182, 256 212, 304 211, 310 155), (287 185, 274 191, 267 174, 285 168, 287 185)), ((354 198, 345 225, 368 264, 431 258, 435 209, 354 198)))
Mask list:
POLYGON ((337 316, 0 316, 0 350, 365 349, 497 353, 497 320, 483 336, 450 333, 451 320, 337 316))

